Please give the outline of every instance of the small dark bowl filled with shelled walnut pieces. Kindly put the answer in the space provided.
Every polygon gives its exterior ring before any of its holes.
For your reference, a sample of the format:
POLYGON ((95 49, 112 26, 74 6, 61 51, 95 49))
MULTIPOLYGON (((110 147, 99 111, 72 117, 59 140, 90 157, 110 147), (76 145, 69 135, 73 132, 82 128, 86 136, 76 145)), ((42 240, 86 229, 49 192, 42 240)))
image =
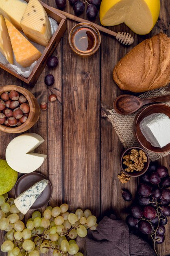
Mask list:
POLYGON ((144 174, 149 167, 148 153, 139 147, 127 148, 120 158, 122 171, 131 177, 138 177, 144 174))

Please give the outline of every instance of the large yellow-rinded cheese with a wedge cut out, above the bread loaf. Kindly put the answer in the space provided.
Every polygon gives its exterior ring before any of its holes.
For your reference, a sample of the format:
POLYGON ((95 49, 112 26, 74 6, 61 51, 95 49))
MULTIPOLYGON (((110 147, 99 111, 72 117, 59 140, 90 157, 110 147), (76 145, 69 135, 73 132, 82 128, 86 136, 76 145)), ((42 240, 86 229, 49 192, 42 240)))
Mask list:
POLYGON ((102 0, 100 22, 104 26, 125 23, 136 34, 148 34, 157 22, 160 0, 102 0))

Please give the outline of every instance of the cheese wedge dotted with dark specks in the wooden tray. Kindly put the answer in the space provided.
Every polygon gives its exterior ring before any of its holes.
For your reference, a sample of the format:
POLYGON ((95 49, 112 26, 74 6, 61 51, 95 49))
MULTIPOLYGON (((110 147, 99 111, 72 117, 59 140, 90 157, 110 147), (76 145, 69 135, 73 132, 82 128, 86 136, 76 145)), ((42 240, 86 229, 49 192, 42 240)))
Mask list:
POLYGON ((29 0, 21 19, 24 34, 39 45, 46 46, 52 36, 50 21, 39 0, 29 0))

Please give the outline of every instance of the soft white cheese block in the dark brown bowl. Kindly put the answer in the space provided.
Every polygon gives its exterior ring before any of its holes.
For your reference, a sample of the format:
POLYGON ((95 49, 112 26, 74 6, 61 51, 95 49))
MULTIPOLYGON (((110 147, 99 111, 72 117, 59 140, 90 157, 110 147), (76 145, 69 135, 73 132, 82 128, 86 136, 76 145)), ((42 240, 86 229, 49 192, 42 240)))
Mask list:
POLYGON ((139 126, 152 146, 163 148, 170 143, 170 118, 167 115, 154 113, 145 117, 139 126))

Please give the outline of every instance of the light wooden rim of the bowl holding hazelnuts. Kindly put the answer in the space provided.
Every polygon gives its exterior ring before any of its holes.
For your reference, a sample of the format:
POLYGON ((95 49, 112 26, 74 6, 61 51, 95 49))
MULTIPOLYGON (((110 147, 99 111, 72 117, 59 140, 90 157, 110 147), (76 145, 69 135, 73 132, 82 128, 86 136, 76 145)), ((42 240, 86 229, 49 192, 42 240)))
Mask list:
MULTIPOLYGON (((20 125, 20 126, 15 126, 15 127, 8 127, 8 126, 4 126, 2 124, 0 124, 0 130, 4 131, 4 132, 9 132, 9 133, 15 133, 13 132, 13 129, 18 128, 18 131, 26 128, 26 126, 28 125, 29 121, 31 121, 31 119, 33 119, 35 112, 32 112, 31 110, 33 108, 35 108, 35 103, 34 101, 31 99, 31 96, 33 97, 33 99, 36 100, 35 96, 32 94, 32 92, 28 91, 27 89, 20 87, 18 85, 4 85, 2 87, 0 87, 0 95, 3 92, 10 92, 11 90, 15 90, 17 92, 20 92, 22 95, 24 95, 29 103, 29 107, 30 107, 30 113, 28 115, 28 118, 26 119, 25 123, 20 125), (11 88, 12 87, 12 88, 11 88), (5 88, 5 90, 4 90, 5 88), (2 91, 3 90, 3 91, 2 91)), ((28 128, 29 129, 29 128, 28 128)))

